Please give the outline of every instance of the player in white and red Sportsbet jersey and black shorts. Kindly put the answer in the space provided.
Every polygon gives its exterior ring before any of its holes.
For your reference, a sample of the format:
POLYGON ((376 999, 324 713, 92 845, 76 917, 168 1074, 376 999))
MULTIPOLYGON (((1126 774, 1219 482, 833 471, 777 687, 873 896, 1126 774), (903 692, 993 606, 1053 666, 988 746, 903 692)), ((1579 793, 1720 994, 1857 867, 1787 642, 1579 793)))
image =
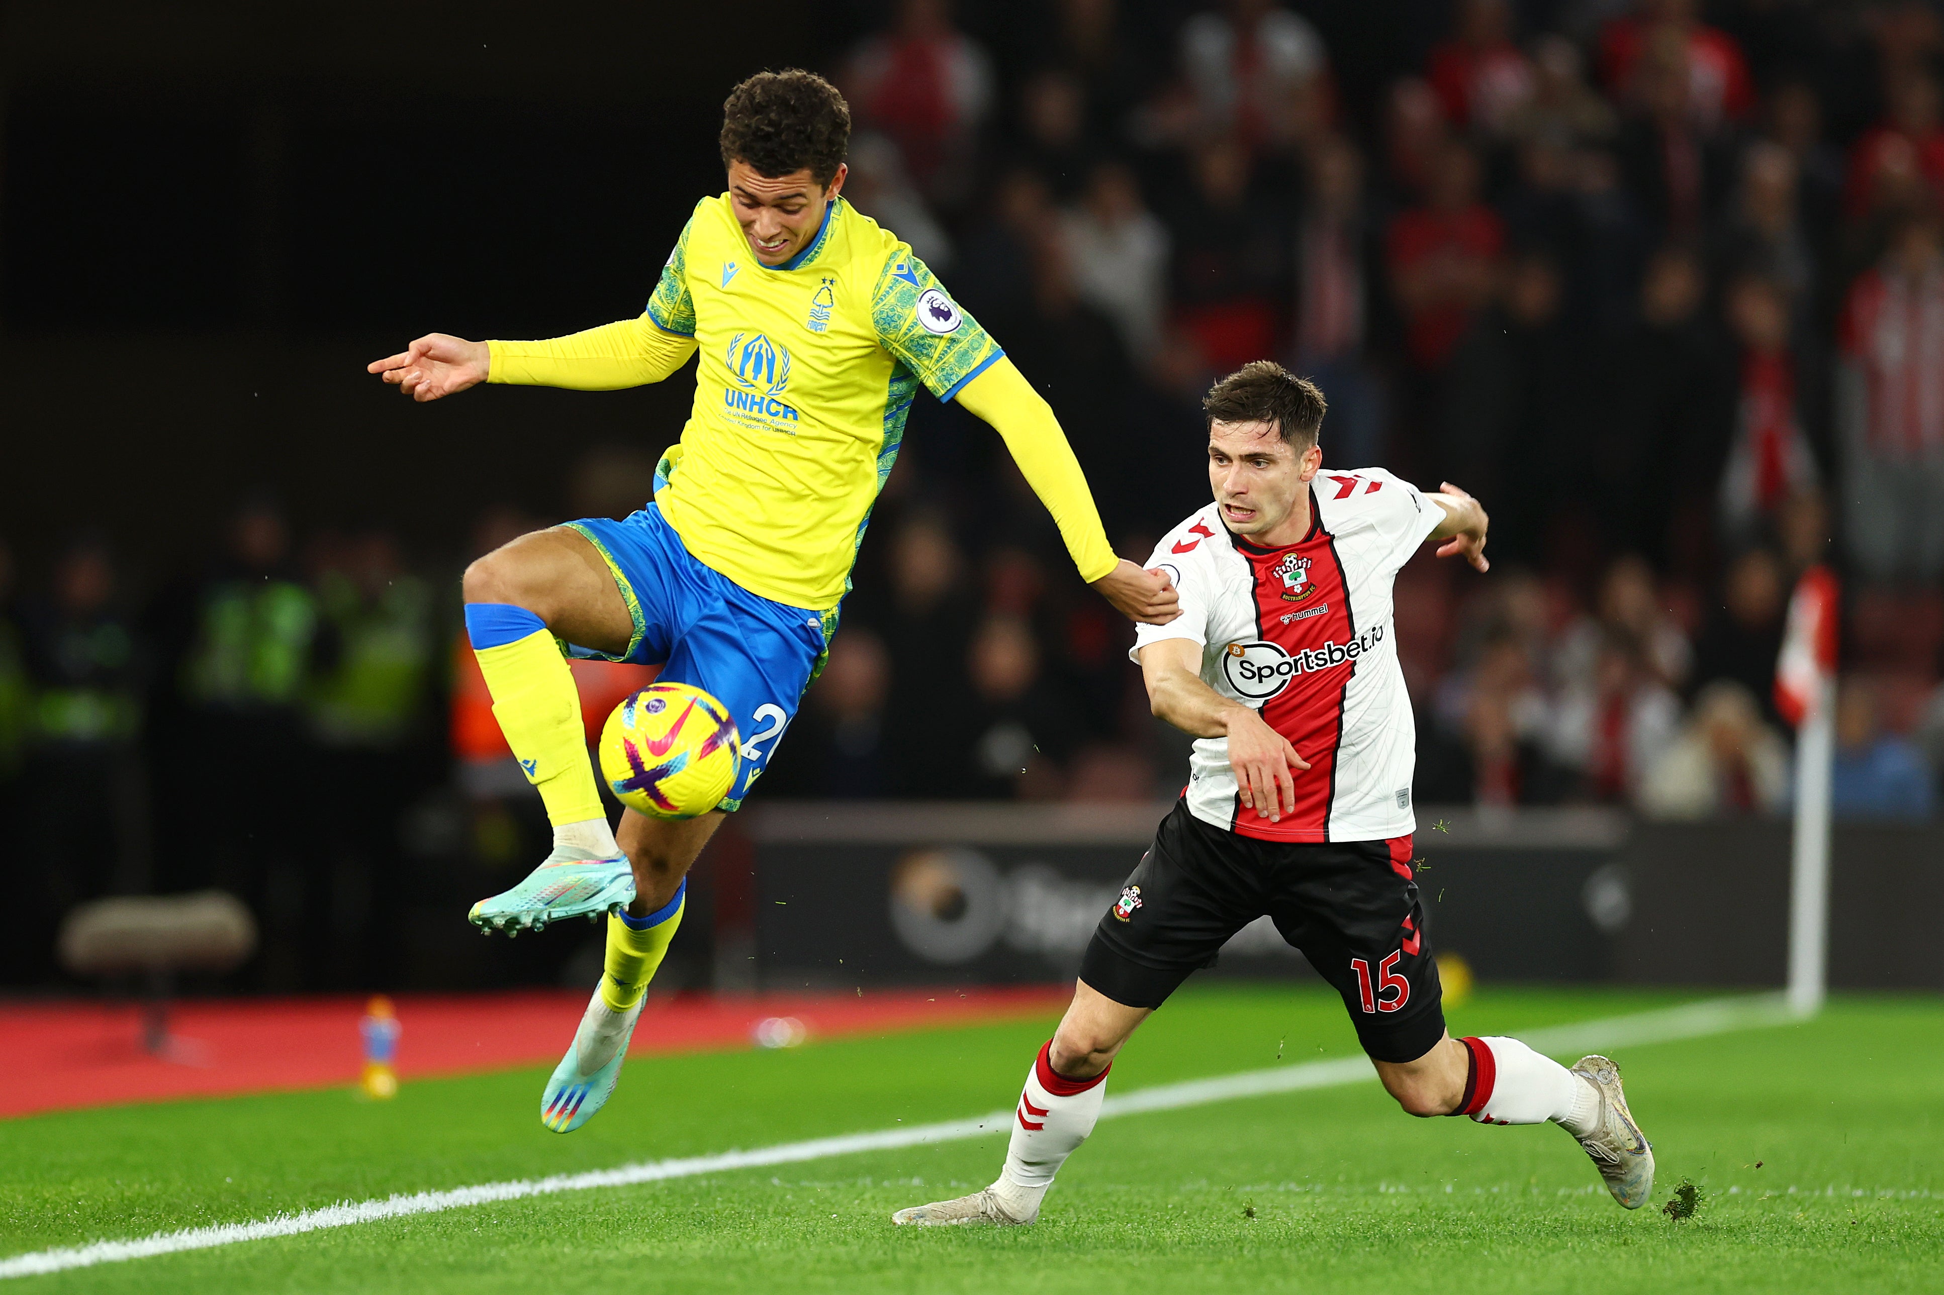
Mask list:
POLYGON ((1040 1048, 999 1178, 894 1223, 1032 1223, 1093 1132, 1114 1056, 1194 970, 1267 914, 1343 996, 1363 1050, 1415 1116, 1563 1126, 1627 1209, 1654 1155, 1604 1056, 1567 1069, 1516 1038, 1452 1038, 1411 879, 1411 700, 1392 581, 1417 546, 1485 562, 1485 509, 1382 469, 1326 471, 1324 397, 1258 360, 1215 383, 1215 500, 1149 562, 1182 614, 1139 626, 1157 716, 1192 733, 1188 788, 1100 918, 1073 1003, 1040 1048))

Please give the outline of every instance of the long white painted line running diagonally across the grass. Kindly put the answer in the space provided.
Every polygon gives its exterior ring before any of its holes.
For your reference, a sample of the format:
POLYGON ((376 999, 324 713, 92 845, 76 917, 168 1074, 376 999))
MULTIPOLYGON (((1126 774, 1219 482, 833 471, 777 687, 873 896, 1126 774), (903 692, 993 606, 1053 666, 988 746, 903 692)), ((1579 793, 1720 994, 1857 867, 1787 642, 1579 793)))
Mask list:
MULTIPOLYGON (((1580 1021, 1524 1034, 1524 1040, 1553 1054, 1573 1054, 1586 1048, 1614 1048, 1619 1044, 1672 1042, 1678 1038, 1701 1038, 1738 1029, 1781 1025, 1790 1021, 1783 998, 1724 998, 1660 1011, 1643 1011, 1604 1021, 1580 1021)), ((1149 1089, 1135 1089, 1108 1097, 1100 1106, 1100 1118, 1143 1114, 1149 1110, 1178 1110, 1182 1106, 1205 1106, 1242 1097, 1266 1097, 1271 1093, 1299 1093, 1304 1089, 1326 1089, 1345 1083, 1374 1079, 1376 1073, 1361 1056, 1332 1058, 1328 1062, 1304 1062, 1301 1066, 1279 1066, 1275 1069, 1252 1069, 1217 1079, 1188 1079, 1184 1083, 1161 1083, 1149 1089)), ((527 1200, 531 1196, 552 1196, 556 1192, 585 1192, 589 1188, 638 1186, 643 1182, 667 1182, 669 1178, 696 1178, 700 1174, 731 1172, 737 1169, 762 1169, 768 1165, 795 1165, 830 1155, 857 1155, 859 1151, 894 1151, 898 1147, 918 1147, 937 1141, 962 1141, 1003 1132, 1013 1122, 1013 1110, 995 1110, 974 1120, 947 1120, 943 1124, 914 1124, 912 1128, 886 1128, 875 1134, 844 1134, 838 1138, 811 1138, 809 1141, 785 1141, 754 1151, 721 1151, 717 1155, 690 1155, 673 1161, 653 1161, 645 1165, 618 1165, 616 1169, 597 1169, 579 1174, 552 1174, 548 1178, 515 1178, 511 1182, 482 1182, 469 1188, 445 1192, 414 1192, 410 1196, 387 1196, 385 1200, 342 1202, 301 1213, 278 1213, 253 1223, 222 1223, 216 1227, 191 1227, 177 1233, 156 1233, 134 1241, 95 1241, 86 1246, 60 1246, 52 1250, 33 1250, 0 1260, 0 1279, 29 1278, 70 1268, 91 1268, 95 1264, 119 1264, 122 1260, 150 1258, 156 1254, 179 1254, 183 1250, 208 1250, 214 1246, 237 1244, 241 1241, 266 1241, 270 1237, 295 1237, 329 1227, 350 1227, 354 1223, 377 1223, 379 1219, 402 1219, 414 1213, 439 1213, 443 1209, 463 1209, 467 1206, 490 1206, 503 1200, 527 1200)))

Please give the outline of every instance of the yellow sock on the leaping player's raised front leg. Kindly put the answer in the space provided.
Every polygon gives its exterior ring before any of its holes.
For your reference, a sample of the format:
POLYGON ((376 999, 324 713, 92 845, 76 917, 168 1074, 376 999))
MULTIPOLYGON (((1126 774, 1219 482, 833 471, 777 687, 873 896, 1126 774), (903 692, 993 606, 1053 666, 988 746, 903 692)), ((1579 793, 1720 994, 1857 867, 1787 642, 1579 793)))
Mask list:
POLYGON ((560 655, 560 644, 546 630, 527 638, 478 648, 480 673, 492 692, 492 714, 507 747, 540 789, 546 819, 554 826, 605 819, 595 770, 587 760, 587 731, 581 727, 581 694, 573 671, 560 655))

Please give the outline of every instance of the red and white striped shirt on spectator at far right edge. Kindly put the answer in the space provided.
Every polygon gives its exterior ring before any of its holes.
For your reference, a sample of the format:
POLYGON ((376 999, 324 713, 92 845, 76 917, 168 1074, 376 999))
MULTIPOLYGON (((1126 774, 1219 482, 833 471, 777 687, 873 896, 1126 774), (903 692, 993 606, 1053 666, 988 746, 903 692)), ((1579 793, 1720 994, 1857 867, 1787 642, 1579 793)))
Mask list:
POLYGON ((1864 270, 1849 290, 1841 346, 1860 377, 1855 443, 1882 459, 1944 457, 1944 270, 1864 270))

